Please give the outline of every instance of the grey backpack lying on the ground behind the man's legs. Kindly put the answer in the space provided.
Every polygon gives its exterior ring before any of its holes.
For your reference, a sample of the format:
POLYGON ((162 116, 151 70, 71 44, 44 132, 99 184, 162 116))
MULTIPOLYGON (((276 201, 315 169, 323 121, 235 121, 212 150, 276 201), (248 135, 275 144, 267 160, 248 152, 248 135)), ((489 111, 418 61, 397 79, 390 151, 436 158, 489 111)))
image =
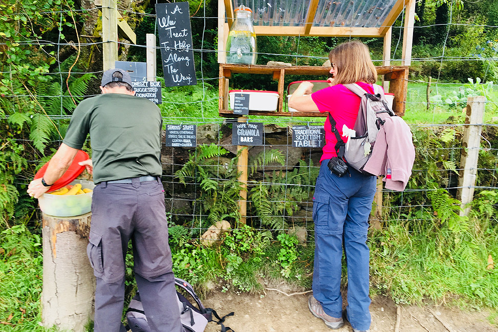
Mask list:
MULTIPOLYGON (((193 291, 192 286, 187 281, 175 278, 175 285, 190 295, 197 304, 197 306, 193 305, 185 296, 177 291, 178 309, 184 332, 203 332, 207 323, 213 321, 212 316, 218 319, 218 321, 214 322, 221 325, 222 332, 229 330, 233 332, 230 327, 223 325, 225 318, 233 316, 233 313, 220 318, 213 309, 206 308, 202 304, 196 292, 193 291)), ((126 326, 127 330, 131 329, 132 332, 152 332, 147 323, 147 317, 145 317, 142 302, 140 301, 140 294, 138 293, 129 302, 128 309, 126 310, 126 321, 128 322, 128 326, 126 326)))

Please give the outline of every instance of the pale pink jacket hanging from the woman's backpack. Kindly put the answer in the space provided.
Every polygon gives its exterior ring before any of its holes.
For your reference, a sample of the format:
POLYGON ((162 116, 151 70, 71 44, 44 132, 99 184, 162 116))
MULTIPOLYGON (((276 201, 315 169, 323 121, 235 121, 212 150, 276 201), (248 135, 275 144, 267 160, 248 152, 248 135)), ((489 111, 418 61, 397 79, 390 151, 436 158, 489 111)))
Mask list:
POLYGON ((412 175, 415 147, 410 127, 400 117, 385 118, 365 171, 385 175, 386 189, 403 191, 412 175), (389 148, 387 148, 389 147, 389 148))

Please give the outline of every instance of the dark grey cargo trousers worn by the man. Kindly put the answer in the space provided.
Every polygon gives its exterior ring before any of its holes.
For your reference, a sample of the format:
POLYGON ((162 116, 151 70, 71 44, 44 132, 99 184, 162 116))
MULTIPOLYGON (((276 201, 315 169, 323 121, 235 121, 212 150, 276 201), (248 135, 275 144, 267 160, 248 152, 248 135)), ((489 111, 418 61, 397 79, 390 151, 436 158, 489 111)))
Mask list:
POLYGON ((134 271, 145 315, 155 332, 181 332, 168 245, 164 190, 159 181, 112 184, 93 192, 87 253, 97 279, 95 332, 125 332, 125 255, 132 239, 134 271))

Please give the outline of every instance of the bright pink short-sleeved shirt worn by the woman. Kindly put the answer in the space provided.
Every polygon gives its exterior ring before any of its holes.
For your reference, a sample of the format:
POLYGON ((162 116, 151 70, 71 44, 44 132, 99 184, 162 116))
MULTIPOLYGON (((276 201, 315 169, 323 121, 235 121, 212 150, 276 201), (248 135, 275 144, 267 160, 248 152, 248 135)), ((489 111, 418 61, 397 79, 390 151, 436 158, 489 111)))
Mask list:
MULTIPOLYGON (((372 84, 357 82, 359 86, 364 88, 366 92, 374 93, 372 84)), ((349 91, 347 87, 342 84, 326 87, 322 90, 314 92, 311 98, 315 102, 318 110, 329 112, 330 115, 337 122, 336 128, 339 130, 339 135, 342 136, 342 126, 345 124, 348 128, 355 126, 356 117, 358 116, 358 109, 360 107, 360 97, 353 92, 349 91)), ((323 147, 323 154, 320 158, 322 160, 337 157, 335 151, 335 144, 337 139, 332 133, 332 128, 328 119, 325 120, 325 146, 323 147)))

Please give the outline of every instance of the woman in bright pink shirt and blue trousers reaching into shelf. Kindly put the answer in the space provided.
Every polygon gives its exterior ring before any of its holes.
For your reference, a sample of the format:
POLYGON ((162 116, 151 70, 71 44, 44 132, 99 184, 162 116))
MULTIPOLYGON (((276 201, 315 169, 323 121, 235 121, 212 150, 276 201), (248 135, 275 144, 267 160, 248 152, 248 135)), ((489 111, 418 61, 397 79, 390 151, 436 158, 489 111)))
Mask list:
MULTIPOLYGON (((359 41, 343 43, 329 54, 332 64, 330 86, 312 93, 313 83, 302 82, 289 100, 289 106, 301 112, 328 112, 342 135, 343 125, 353 128, 360 97, 343 84, 357 83, 374 93, 372 84, 377 71, 369 49, 359 41)), ((366 245, 369 215, 376 191, 376 177, 363 175, 351 167, 337 176, 329 170, 331 158, 337 157, 337 139, 329 120, 325 121, 325 140, 320 172, 313 195, 315 223, 315 261, 311 313, 332 328, 343 323, 340 292, 342 250, 348 268, 348 306, 345 318, 354 332, 367 332, 371 324, 369 297, 370 250, 366 245)), ((345 141, 345 138, 343 138, 345 141)))

